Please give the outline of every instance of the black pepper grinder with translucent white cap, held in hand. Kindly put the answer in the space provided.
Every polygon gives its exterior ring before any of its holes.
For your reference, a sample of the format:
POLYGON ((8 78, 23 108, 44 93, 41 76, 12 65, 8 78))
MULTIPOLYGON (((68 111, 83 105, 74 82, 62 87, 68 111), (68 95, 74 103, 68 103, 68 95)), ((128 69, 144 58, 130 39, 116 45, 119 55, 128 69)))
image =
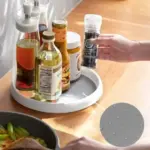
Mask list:
POLYGON ((98 55, 98 47, 91 43, 90 39, 98 38, 102 24, 102 17, 94 14, 87 14, 84 18, 85 39, 83 48, 83 66, 95 68, 98 55))

